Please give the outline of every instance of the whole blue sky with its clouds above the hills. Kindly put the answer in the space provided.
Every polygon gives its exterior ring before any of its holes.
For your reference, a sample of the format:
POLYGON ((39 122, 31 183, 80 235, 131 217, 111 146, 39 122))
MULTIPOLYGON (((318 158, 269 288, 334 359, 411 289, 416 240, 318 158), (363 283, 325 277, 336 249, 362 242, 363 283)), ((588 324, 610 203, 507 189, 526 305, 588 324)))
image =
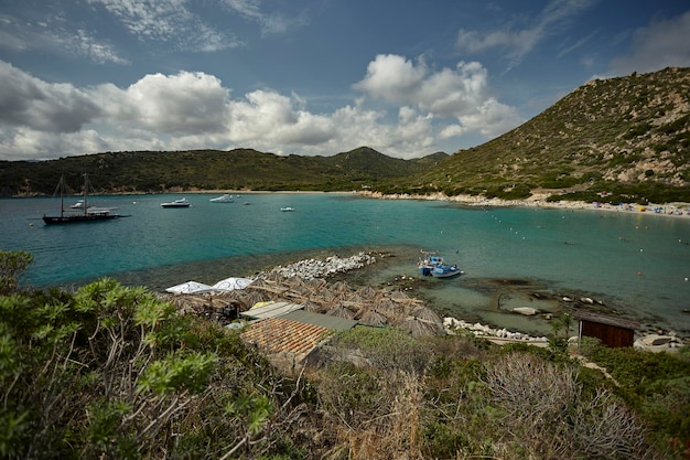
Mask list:
POLYGON ((453 153, 667 66, 687 0, 0 0, 0 160, 453 153))

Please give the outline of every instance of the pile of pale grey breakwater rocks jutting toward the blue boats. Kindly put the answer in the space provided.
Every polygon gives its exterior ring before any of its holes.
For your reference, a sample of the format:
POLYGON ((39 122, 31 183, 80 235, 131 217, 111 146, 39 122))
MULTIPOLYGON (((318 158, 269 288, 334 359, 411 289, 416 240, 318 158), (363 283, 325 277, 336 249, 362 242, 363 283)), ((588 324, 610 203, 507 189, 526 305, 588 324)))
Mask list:
POLYGON ((351 257, 341 258, 338 256, 326 257, 323 260, 305 259, 285 267, 277 266, 270 271, 260 274, 257 278, 265 278, 269 275, 278 275, 283 278, 300 277, 304 280, 325 278, 335 274, 343 274, 349 270, 364 268, 376 263, 376 257, 370 254, 359 253, 351 257))

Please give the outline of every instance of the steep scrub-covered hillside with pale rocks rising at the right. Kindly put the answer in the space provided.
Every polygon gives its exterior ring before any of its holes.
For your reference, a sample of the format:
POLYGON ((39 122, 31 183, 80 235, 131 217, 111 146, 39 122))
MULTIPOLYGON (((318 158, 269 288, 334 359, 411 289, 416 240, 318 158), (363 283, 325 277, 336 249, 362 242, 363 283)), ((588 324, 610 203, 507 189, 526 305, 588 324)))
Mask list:
POLYGON ((507 199, 535 190, 690 201, 690 68, 592 81, 525 125, 380 188, 507 199))

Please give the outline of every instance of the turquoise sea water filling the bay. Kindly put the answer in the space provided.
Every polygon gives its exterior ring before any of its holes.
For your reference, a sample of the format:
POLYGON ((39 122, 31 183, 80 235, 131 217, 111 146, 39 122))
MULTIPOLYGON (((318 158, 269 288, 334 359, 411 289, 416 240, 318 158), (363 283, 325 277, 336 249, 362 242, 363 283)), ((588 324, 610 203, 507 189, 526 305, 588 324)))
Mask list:
POLYGON ((33 254, 24 286, 75 287, 107 276, 154 290, 188 280, 213 285, 302 258, 381 250, 392 257, 359 278, 395 285, 409 277, 424 300, 457 318, 545 332, 547 322, 510 313, 524 306, 558 313, 558 302, 536 300, 540 292, 589 297, 607 312, 690 335, 690 217, 356 194, 246 193, 235 203, 211 203, 214 196, 98 196, 94 204, 129 217, 54 226, 41 216, 55 214, 58 199, 3 199, 0 249, 33 254), (182 196, 191 207, 160 206, 182 196), (287 206, 294 211, 281 212, 287 206), (440 252, 465 274, 421 277, 420 249, 440 252))

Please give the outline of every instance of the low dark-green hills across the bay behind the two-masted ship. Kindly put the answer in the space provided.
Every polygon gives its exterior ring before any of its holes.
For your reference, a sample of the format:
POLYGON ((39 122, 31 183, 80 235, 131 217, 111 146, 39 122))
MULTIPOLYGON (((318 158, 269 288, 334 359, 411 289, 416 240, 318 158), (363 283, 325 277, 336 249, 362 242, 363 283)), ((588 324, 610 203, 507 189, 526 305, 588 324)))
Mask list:
POLYGON ((362 147, 333 157, 280 157, 251 149, 107 152, 41 162, 0 162, 0 195, 51 195, 60 176, 75 192, 88 173, 99 193, 197 190, 360 190, 435 165, 445 153, 401 160, 362 147))

